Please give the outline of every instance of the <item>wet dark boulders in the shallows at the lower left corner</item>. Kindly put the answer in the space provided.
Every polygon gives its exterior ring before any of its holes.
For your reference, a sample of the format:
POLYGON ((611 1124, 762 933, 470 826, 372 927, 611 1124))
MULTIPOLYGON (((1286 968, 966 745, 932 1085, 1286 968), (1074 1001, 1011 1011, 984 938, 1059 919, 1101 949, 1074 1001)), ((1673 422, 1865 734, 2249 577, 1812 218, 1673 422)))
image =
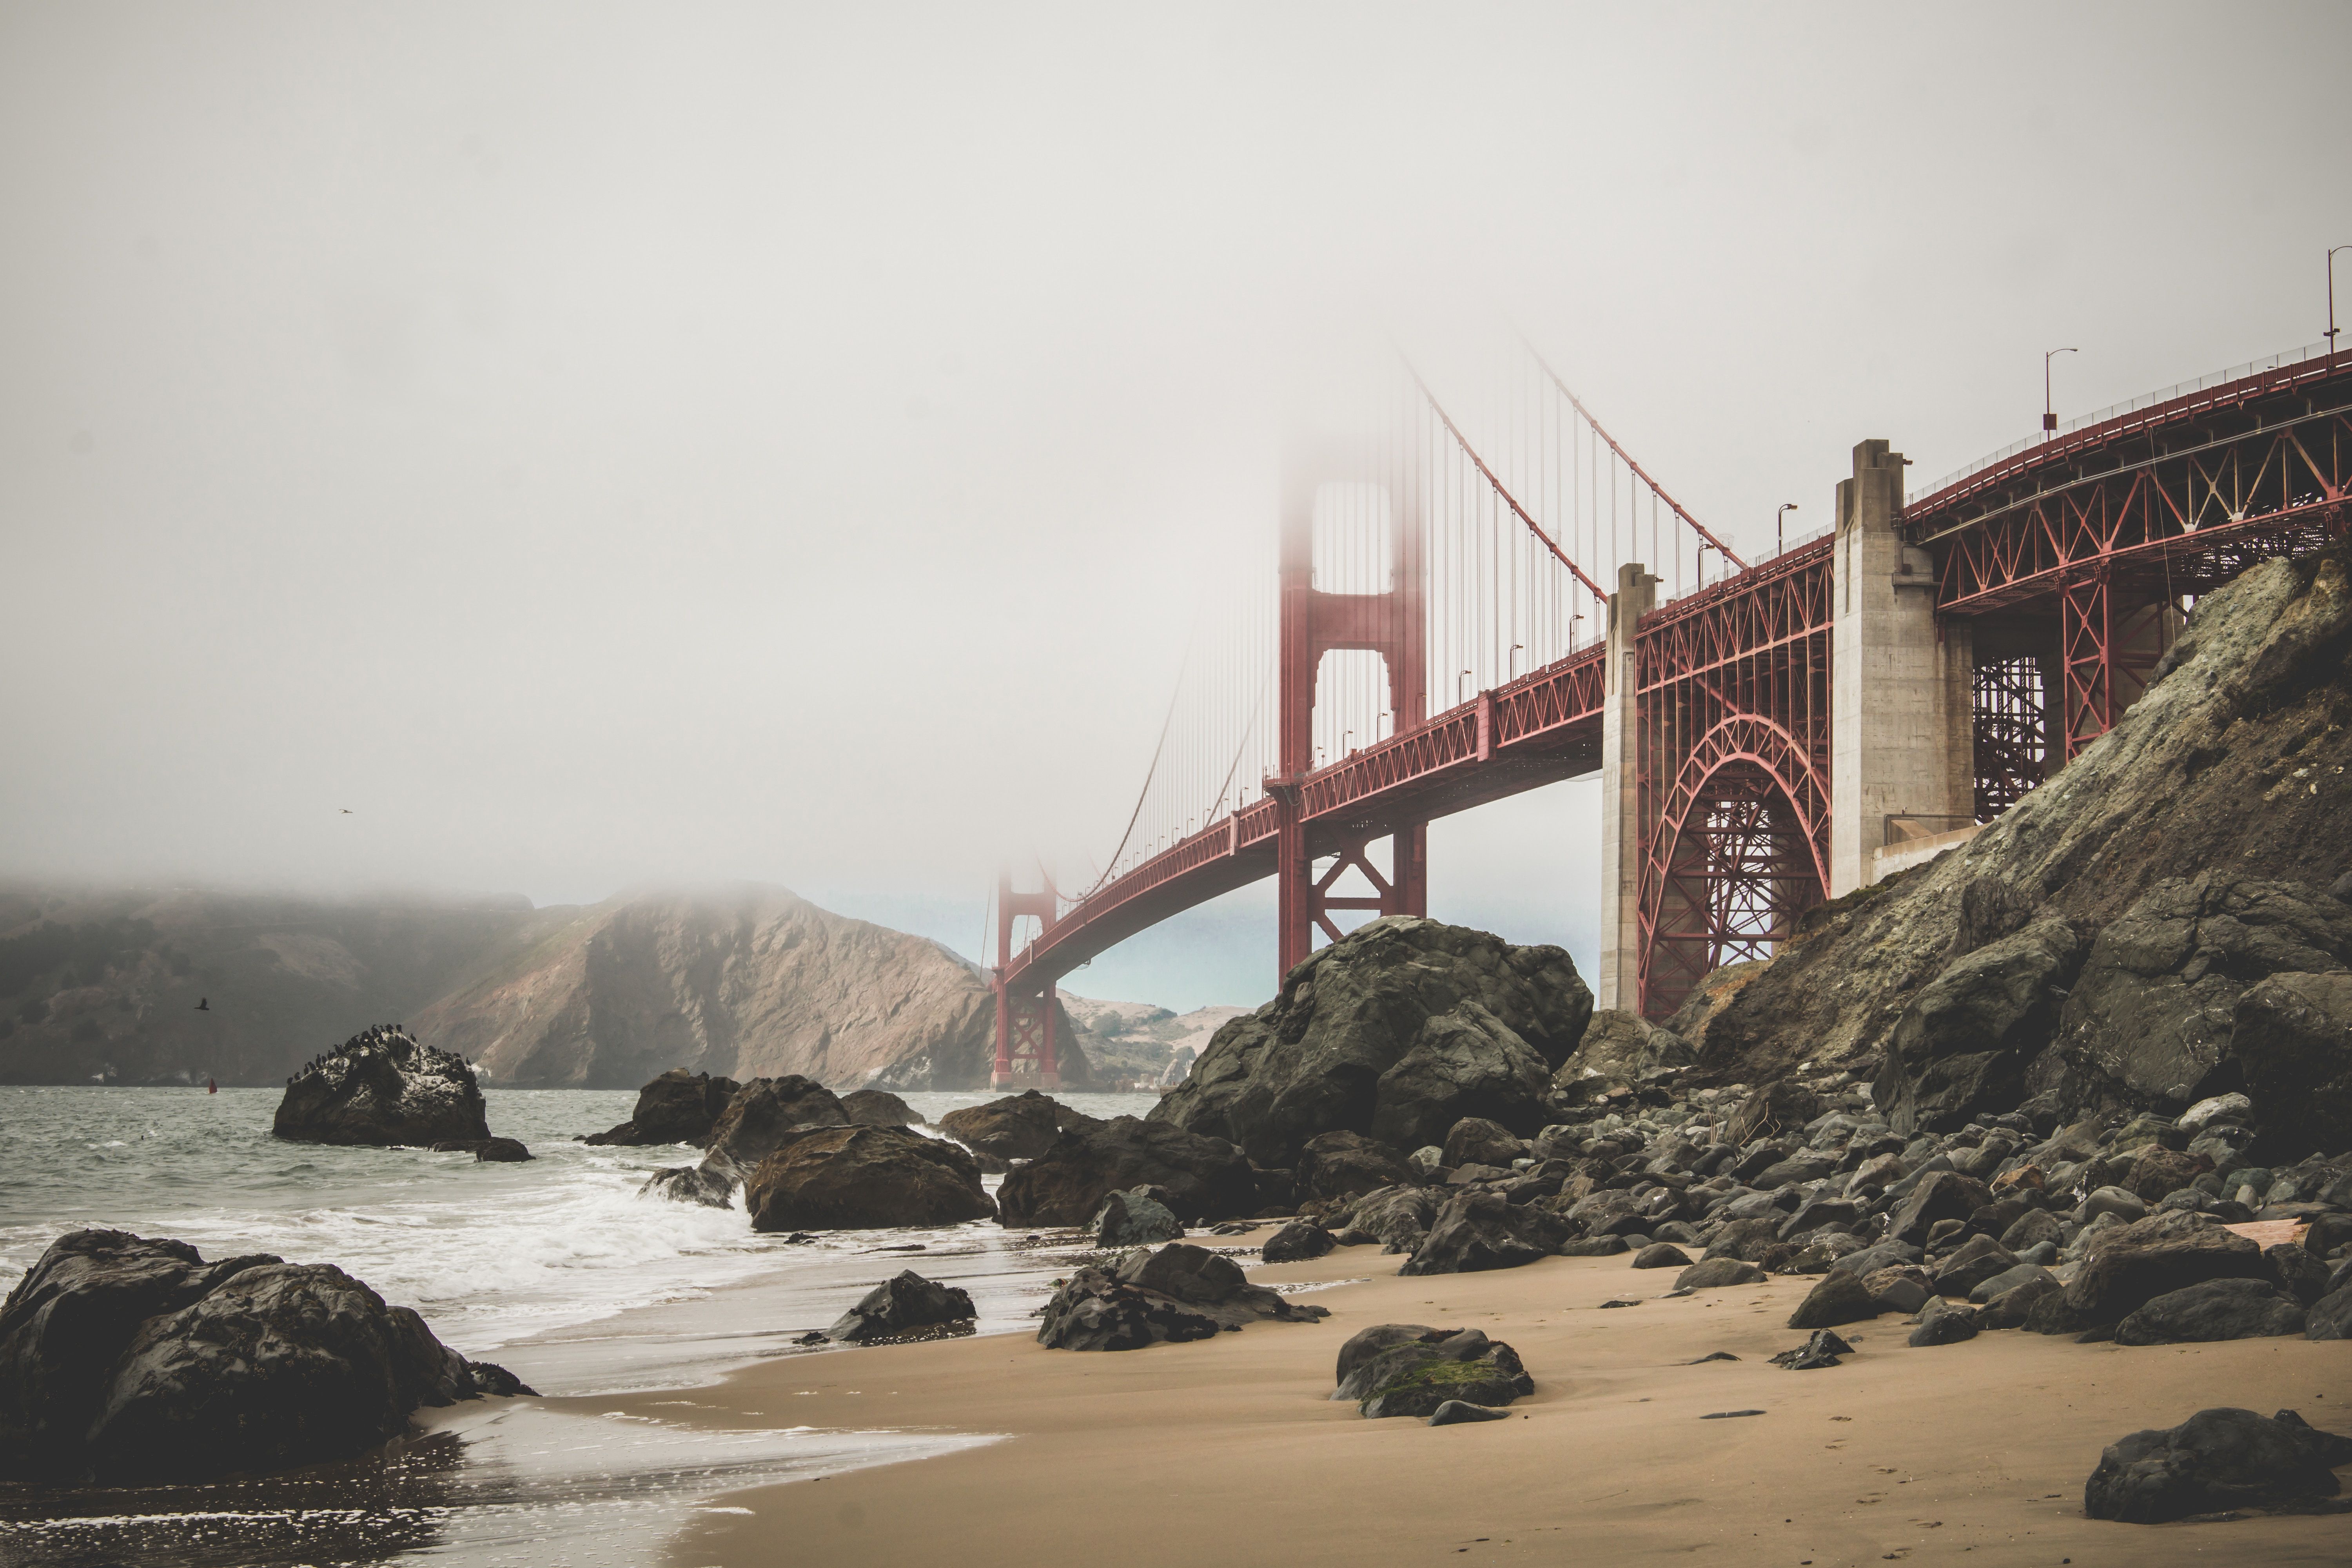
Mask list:
POLYGON ((529 1394, 332 1265, 59 1237, 0 1305, 0 1479, 205 1481, 346 1460, 419 1406, 529 1394))

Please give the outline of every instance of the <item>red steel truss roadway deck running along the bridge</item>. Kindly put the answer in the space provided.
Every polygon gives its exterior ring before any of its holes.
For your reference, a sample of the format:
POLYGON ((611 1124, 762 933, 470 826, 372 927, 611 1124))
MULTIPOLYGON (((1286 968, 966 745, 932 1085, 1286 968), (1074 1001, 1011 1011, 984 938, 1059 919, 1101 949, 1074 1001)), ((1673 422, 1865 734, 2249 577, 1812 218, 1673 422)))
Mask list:
MULTIPOLYGON (((1903 527, 1936 557, 1938 618, 2016 614, 2107 567, 2119 576, 2166 574, 2169 590, 2209 592, 2265 555, 2343 538, 2347 477, 2352 353, 2281 355, 2253 374, 2143 400, 2004 451, 1907 503, 1903 527)), ((1686 646, 1712 644, 1717 658, 1785 642, 1788 625, 1769 602, 1825 571, 1832 545, 1830 536, 1802 543, 1642 616, 1642 684, 1653 684, 1651 646, 1670 630, 1686 646)), ((1171 914, 1275 875, 1284 795, 1298 802, 1310 853, 1329 856, 1597 771, 1604 656, 1606 644, 1592 642, 1418 729, 1291 783, 1268 780, 1272 797, 1209 823, 1044 922, 1000 985, 1037 992, 1171 914)), ((2063 755, 2074 750, 2077 736, 2067 733, 2063 755)))

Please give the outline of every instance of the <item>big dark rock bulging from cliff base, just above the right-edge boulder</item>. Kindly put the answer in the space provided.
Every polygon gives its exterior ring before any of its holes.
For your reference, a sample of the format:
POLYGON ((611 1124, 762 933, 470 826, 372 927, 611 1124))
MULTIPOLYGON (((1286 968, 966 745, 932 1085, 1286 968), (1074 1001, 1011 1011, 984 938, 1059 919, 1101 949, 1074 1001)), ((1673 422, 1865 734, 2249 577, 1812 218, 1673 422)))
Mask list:
MULTIPOLYGON (((2249 985, 2343 969, 2347 954, 2352 907, 2319 889, 2220 872, 2169 877, 2098 933, 2058 1044, 2082 1093, 2178 1112, 2239 1088, 2227 1058, 2249 985)), ((2256 1107, 2272 1110, 2263 1095, 2256 1107)))

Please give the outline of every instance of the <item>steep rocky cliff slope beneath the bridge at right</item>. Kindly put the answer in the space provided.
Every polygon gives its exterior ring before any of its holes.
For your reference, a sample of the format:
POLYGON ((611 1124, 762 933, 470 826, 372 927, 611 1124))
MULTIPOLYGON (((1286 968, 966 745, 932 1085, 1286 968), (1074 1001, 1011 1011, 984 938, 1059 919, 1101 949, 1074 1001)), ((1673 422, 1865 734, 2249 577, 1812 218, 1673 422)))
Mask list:
POLYGON ((1710 1081, 1877 1072, 1898 1128, 2034 1093, 2234 1086, 2239 997, 2345 966, 2326 889, 2352 865, 2347 651, 2343 552, 2256 567, 2053 780, 1971 844, 1823 905, 1771 964, 1710 976, 1668 1027, 1710 1081))

